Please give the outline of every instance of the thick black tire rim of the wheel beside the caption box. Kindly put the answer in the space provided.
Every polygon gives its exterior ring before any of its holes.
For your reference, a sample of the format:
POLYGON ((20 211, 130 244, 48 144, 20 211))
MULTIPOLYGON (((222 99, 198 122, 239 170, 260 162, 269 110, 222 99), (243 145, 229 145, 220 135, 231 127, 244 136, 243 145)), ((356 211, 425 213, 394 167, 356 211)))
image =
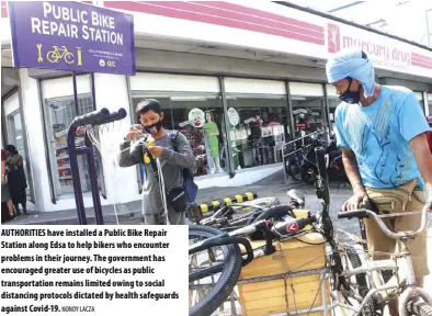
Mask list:
MULTIPOLYGON (((224 232, 202 225, 189 226, 189 235, 211 238, 224 232)), ((208 292, 208 294, 193 307, 189 308, 190 316, 208 316, 215 312, 225 300, 231 294, 239 279, 242 257, 238 245, 221 246, 226 249, 224 270, 219 280, 208 292)))

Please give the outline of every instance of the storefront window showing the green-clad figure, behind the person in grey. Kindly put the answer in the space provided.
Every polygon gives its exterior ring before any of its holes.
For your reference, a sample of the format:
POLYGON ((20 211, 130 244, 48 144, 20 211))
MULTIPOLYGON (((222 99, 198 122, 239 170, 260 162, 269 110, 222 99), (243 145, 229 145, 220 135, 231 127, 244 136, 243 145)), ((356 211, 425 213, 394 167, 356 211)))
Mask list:
MULTIPOLYGON (((171 94, 171 93, 170 93, 171 94)), ((224 109, 219 95, 145 95, 134 98, 134 109, 143 99, 156 99, 164 113, 162 126, 186 136, 197 161, 195 176, 228 172, 224 109)), ((138 122, 135 117, 135 122, 138 122)))

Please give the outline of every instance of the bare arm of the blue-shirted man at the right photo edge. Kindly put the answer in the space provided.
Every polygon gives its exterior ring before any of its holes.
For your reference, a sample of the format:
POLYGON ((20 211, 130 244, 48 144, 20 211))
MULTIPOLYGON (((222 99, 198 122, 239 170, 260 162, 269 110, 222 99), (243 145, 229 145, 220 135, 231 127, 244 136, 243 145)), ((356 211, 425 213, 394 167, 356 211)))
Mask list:
POLYGON ((432 196, 432 154, 429 148, 427 134, 420 134, 410 142, 412 153, 414 154, 417 167, 421 177, 427 182, 428 194, 432 196))

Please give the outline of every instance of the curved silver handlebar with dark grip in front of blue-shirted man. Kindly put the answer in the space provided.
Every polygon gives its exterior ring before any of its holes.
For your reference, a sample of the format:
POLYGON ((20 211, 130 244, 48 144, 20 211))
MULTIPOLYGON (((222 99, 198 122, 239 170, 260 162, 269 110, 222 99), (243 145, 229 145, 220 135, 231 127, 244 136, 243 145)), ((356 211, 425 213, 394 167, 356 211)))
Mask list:
POLYGON ((409 230, 409 232, 399 232, 394 233, 387 228, 386 224, 384 224, 383 219, 379 216, 370 210, 353 210, 348 212, 339 212, 338 218, 352 218, 352 217, 372 217, 378 224, 379 228, 383 230, 391 239, 402 239, 402 238, 414 238, 416 236, 422 234, 428 225, 428 211, 431 208, 432 202, 429 202, 424 205, 421 212, 421 224, 418 230, 409 230))

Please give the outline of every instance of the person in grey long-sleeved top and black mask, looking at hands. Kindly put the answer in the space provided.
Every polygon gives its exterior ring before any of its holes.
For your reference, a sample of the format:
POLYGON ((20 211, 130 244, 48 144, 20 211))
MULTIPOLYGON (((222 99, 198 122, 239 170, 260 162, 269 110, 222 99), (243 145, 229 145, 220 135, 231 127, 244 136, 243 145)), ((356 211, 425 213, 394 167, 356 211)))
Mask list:
POLYGON ((124 142, 121 143, 118 165, 130 167, 141 162, 145 166, 143 211, 147 225, 166 225, 168 224, 167 217, 170 225, 184 225, 186 224, 185 204, 187 202, 185 194, 182 194, 184 193, 182 170, 183 168, 193 169, 195 166, 192 148, 183 134, 162 127, 164 114, 159 101, 155 99, 140 101, 136 113, 140 124, 133 125, 124 142), (171 135, 173 133, 177 133, 177 151, 172 148, 171 135), (150 138, 147 138, 147 142, 139 142, 135 148, 130 149, 130 142, 143 135, 148 135, 152 140, 149 142, 150 138), (161 174, 158 172, 156 159, 160 161, 161 174), (161 191, 163 187, 166 192, 161 191), (166 214, 161 193, 166 195, 168 214, 166 214), (174 198, 171 199, 171 196, 174 198))

